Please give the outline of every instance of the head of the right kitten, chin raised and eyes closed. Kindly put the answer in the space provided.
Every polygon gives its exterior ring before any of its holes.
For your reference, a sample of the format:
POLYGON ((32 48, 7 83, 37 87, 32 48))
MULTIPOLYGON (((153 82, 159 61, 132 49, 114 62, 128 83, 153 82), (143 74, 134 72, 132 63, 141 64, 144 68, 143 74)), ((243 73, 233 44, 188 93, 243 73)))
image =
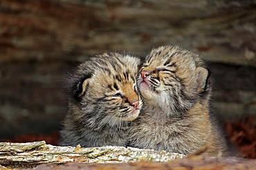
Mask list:
POLYGON ((186 111, 210 89, 201 58, 177 46, 158 47, 140 68, 138 87, 145 103, 170 114, 186 111))

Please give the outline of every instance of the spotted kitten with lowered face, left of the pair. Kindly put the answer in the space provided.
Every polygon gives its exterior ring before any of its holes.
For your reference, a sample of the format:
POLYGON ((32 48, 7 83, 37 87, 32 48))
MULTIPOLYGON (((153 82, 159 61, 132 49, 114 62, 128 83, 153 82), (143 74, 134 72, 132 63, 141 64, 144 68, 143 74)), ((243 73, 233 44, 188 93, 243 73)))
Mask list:
POLYGON ((137 58, 110 53, 77 67, 68 83, 62 145, 127 145, 129 121, 138 117, 142 105, 136 92, 139 63, 137 58))

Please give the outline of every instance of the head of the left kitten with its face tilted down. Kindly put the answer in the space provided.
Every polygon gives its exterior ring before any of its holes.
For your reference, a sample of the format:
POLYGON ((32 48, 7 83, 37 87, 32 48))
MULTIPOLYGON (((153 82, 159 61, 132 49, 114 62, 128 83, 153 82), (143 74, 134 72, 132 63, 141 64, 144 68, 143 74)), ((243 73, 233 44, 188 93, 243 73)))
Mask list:
POLYGON ((110 53, 79 65, 71 78, 71 102, 80 108, 79 119, 100 128, 137 118, 142 105, 136 91, 139 63, 137 58, 110 53))

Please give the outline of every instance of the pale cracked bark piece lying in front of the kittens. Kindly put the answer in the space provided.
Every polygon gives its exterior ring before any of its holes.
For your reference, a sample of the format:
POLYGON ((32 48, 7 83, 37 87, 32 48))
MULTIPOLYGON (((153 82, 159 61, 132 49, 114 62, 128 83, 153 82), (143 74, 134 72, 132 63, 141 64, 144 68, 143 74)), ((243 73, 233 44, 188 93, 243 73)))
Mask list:
POLYGON ((57 147, 44 141, 0 142, 0 164, 5 167, 35 167, 38 164, 66 162, 124 163, 137 161, 167 162, 183 158, 179 153, 125 147, 57 147))

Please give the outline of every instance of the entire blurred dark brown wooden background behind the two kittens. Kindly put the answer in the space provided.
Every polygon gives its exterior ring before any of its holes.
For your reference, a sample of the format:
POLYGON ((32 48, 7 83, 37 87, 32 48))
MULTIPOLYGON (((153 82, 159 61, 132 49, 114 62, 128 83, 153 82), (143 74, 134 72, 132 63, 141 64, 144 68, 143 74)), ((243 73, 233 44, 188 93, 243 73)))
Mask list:
POLYGON ((255 28, 254 0, 1 0, 0 141, 57 145, 64 77, 89 56, 176 44, 208 62, 212 112, 256 158, 255 28))

